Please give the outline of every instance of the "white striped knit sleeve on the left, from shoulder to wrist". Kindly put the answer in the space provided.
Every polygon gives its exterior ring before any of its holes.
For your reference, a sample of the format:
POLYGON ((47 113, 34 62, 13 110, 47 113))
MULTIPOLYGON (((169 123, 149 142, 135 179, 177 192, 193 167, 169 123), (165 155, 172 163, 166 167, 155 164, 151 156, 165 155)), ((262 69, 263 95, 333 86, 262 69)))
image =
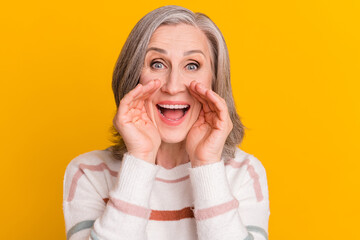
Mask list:
POLYGON ((146 239, 149 199, 158 166, 125 154, 105 203, 94 176, 87 175, 83 165, 72 161, 65 172, 63 210, 67 239, 146 239))

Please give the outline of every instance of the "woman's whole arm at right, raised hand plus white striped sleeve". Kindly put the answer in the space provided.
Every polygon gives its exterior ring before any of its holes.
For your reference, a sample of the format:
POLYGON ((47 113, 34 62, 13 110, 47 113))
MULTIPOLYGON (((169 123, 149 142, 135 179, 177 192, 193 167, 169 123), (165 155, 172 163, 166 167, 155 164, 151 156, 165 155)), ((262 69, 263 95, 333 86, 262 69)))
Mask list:
MULTIPOLYGON (((189 91, 202 104, 200 116, 186 139, 193 167, 190 178, 199 239, 266 239, 267 234, 252 234, 248 231, 258 229, 258 225, 261 229, 267 229, 268 199, 266 197, 258 201, 258 191, 254 194, 252 189, 248 189, 256 180, 257 187, 266 189, 267 193, 266 174, 261 163, 254 164, 256 168, 251 165, 251 171, 246 176, 242 171, 243 178, 237 178, 239 180, 235 182, 232 180, 229 185, 229 171, 225 171, 224 162, 221 161, 226 138, 233 127, 226 102, 211 89, 195 81, 190 84, 189 91), (239 181, 243 183, 240 186, 239 181)), ((256 161, 253 159, 252 162, 256 161)), ((263 195, 267 196, 265 193, 263 195)))

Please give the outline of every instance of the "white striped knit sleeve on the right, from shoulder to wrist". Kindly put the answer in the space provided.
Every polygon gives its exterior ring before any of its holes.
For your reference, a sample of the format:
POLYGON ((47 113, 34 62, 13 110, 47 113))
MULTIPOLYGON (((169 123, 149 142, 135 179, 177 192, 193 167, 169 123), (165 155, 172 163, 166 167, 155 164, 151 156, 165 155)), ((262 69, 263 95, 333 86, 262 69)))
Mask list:
POLYGON ((189 170, 200 240, 268 239, 265 169, 253 156, 234 163, 233 169, 220 161, 189 170))

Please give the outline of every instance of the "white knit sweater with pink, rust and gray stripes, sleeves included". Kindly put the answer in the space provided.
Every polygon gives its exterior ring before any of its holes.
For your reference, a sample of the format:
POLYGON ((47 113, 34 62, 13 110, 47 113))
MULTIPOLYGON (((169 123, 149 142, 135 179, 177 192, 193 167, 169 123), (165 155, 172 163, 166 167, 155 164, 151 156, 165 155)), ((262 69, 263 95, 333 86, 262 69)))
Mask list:
POLYGON ((67 239, 268 239, 265 169, 236 149, 234 159, 165 169, 109 149, 74 158, 64 177, 67 239))

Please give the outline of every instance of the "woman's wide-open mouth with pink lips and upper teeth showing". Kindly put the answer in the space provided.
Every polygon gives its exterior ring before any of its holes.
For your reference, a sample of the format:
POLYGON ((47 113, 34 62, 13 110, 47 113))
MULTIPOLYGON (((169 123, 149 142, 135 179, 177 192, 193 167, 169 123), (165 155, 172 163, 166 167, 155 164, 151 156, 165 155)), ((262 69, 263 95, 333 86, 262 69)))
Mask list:
POLYGON ((190 105, 186 102, 166 101, 156 104, 160 119, 168 125, 176 126, 182 123, 190 105))

